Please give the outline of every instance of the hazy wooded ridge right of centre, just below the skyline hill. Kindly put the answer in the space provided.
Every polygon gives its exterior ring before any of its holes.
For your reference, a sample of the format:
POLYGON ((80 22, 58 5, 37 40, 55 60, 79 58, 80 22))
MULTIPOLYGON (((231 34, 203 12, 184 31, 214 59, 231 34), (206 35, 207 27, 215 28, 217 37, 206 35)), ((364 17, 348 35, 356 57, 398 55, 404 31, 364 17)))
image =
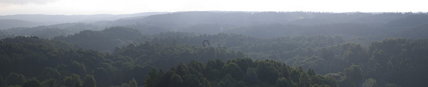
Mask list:
POLYGON ((255 26, 237 27, 224 32, 238 33, 249 36, 275 38, 278 36, 297 35, 342 35, 342 36, 367 36, 384 34, 384 28, 370 27, 358 23, 331 23, 312 26, 301 26, 293 24, 263 24, 255 26))

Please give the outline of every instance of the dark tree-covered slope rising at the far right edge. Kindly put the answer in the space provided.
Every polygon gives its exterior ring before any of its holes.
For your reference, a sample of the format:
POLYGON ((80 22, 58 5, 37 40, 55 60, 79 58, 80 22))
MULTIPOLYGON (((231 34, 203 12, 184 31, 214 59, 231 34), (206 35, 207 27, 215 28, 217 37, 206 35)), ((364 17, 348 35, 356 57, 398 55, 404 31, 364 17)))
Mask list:
POLYGON ((426 39, 405 38, 388 38, 372 42, 368 47, 368 53, 372 54, 372 57, 369 63, 362 67, 367 70, 365 76, 373 77, 381 85, 394 83, 399 86, 423 86, 427 71, 420 69, 425 68, 428 61, 426 44, 426 39))

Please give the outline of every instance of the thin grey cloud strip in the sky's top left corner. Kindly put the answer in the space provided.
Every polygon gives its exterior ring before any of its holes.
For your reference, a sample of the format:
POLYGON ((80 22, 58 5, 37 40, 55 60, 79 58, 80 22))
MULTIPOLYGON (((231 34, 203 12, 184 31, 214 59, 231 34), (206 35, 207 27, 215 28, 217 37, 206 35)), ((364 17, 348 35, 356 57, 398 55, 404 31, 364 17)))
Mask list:
POLYGON ((37 3, 45 4, 46 2, 53 2, 57 0, 0 0, 0 3, 10 3, 10 4, 27 4, 27 3, 37 3))

